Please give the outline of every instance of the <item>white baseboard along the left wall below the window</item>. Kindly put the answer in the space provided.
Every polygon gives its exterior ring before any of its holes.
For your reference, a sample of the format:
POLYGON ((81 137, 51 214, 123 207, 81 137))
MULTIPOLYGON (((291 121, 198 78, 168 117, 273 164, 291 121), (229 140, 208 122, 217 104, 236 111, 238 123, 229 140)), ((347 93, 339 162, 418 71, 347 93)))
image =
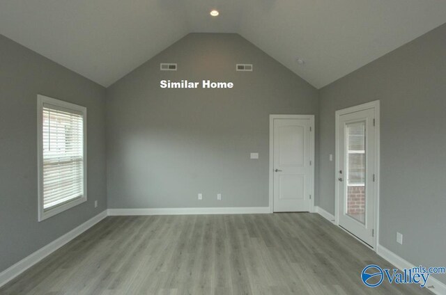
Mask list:
POLYGON ((26 269, 29 269, 37 262, 40 262, 40 260, 43 260, 43 258, 47 257, 55 250, 61 248, 61 246, 67 244, 72 239, 75 239, 75 237, 79 236, 79 234, 82 234, 82 232, 85 232, 99 221, 102 221, 102 219, 104 219, 105 217, 107 217, 107 210, 102 211, 100 214, 82 223, 74 230, 63 234, 62 237, 59 237, 46 246, 43 246, 43 248, 40 248, 31 255, 25 257, 23 260, 20 260, 20 262, 17 262, 13 266, 10 266, 8 269, 2 271, 0 273, 0 287, 5 285, 10 280, 13 280, 13 278, 15 278, 16 276, 19 276, 20 273, 23 273, 24 271, 26 271, 26 269))

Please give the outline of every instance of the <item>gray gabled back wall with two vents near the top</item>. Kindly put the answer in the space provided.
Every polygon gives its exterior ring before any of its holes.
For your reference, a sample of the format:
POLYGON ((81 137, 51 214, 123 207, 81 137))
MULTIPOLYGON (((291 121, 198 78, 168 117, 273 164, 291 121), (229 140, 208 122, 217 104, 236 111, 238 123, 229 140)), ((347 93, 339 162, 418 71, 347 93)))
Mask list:
POLYGON ((109 208, 267 207, 269 115, 317 111, 314 87, 240 35, 187 35, 107 88, 109 208), (235 86, 161 89, 162 79, 235 86))

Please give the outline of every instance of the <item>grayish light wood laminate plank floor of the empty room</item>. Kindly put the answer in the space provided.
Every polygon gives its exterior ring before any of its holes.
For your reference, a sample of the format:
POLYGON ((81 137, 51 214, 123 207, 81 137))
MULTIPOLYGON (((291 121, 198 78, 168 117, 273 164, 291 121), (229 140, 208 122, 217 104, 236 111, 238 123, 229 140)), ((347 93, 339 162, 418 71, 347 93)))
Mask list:
POLYGON ((431 294, 360 272, 390 267, 318 214, 114 216, 0 294, 431 294))

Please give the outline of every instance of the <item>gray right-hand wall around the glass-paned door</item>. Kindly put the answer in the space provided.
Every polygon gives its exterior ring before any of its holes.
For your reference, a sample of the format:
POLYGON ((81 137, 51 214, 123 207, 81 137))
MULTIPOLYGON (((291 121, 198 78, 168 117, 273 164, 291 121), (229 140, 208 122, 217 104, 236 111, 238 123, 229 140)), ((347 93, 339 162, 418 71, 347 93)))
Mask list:
POLYGON ((319 205, 334 214, 334 111, 380 99, 380 244, 415 265, 446 265, 445 95, 446 25, 320 92, 319 205))

